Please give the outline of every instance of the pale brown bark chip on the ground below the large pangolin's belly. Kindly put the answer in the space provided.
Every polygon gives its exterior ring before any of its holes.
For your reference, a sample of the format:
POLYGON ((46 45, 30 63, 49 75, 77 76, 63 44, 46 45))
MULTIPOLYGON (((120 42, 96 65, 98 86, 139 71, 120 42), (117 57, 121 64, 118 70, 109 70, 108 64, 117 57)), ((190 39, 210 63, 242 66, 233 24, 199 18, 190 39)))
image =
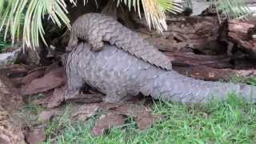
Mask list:
POLYGON ((99 106, 97 103, 82 105, 72 117, 79 121, 86 121, 96 114, 98 108, 99 106))

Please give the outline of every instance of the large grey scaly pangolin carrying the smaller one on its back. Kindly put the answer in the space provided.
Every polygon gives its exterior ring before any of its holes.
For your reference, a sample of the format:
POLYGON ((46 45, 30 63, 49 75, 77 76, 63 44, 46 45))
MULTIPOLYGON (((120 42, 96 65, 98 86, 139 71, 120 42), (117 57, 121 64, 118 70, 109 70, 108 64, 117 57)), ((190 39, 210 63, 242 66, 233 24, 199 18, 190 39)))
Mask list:
POLYGON ((90 45, 74 46, 66 59, 66 98, 84 83, 106 94, 106 102, 122 102, 139 92, 166 102, 207 102, 236 92, 247 102, 256 101, 256 87, 224 82, 206 82, 142 61, 117 46, 106 45, 100 52, 90 45))

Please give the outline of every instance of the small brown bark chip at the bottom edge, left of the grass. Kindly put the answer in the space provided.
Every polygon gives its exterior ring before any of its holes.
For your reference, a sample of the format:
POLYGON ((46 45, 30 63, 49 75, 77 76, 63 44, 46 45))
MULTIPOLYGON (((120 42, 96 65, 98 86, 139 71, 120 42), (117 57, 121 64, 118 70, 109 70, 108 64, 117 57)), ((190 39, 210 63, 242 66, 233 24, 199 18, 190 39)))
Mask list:
POLYGON ((29 144, 42 143, 46 139, 46 134, 42 129, 33 129, 26 133, 26 142, 29 144))

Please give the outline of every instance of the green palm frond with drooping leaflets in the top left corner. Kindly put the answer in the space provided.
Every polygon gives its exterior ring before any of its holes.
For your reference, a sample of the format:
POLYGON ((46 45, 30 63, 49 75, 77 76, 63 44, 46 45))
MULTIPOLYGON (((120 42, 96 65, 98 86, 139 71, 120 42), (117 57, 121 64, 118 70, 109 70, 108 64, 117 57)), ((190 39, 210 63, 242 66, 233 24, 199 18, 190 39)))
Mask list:
POLYGON ((42 19, 48 16, 54 24, 62 26, 64 23, 70 27, 70 20, 66 13, 64 0, 0 0, 0 18, 2 19, 0 30, 5 28, 5 38, 10 31, 14 42, 15 38, 20 37, 20 31, 23 28, 23 44, 28 47, 38 47, 39 37, 46 44, 42 19), (22 14, 25 14, 25 18, 22 18, 22 14))

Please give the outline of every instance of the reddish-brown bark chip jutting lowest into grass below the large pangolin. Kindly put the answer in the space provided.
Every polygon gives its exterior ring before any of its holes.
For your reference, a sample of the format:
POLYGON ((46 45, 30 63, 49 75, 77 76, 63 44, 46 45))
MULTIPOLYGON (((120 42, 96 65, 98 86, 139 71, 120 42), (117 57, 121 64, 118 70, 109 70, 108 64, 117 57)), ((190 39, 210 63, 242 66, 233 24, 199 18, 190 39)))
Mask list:
POLYGON ((95 123, 93 130, 91 130, 91 135, 94 137, 100 136, 104 134, 106 130, 124 125, 125 120, 126 119, 122 114, 104 114, 95 123))

